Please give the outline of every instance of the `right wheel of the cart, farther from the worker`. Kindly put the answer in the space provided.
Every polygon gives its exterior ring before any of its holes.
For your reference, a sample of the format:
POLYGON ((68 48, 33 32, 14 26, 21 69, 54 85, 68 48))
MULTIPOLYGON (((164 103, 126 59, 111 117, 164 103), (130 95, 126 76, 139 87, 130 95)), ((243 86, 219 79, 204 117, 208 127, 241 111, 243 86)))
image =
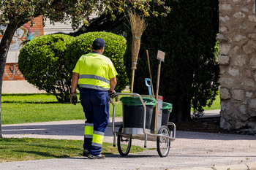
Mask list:
MULTIPOLYGON (((170 131, 166 125, 162 125, 159 128, 158 134, 162 134, 165 136, 170 136, 170 131)), ((170 139, 165 137, 157 137, 157 152, 160 157, 165 157, 168 155, 170 150, 170 139)))

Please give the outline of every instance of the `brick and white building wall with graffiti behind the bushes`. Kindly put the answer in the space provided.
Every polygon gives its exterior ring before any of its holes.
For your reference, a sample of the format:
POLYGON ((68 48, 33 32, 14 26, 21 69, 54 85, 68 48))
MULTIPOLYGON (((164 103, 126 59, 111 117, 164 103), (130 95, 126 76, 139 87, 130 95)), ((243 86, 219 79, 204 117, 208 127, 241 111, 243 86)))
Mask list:
MULTIPOLYGON (((4 26, 0 26, 4 29, 4 26)), ((46 20, 45 27, 42 25, 42 17, 34 19, 34 26, 31 23, 18 28, 12 38, 10 50, 7 55, 7 63, 4 69, 4 82, 2 93, 45 93, 44 90, 38 90, 34 85, 29 84, 21 74, 18 68, 18 55, 22 47, 21 43, 31 40, 37 36, 46 34, 54 34, 56 32, 70 33, 74 31, 70 25, 64 23, 50 24, 50 20, 46 20)), ((2 35, 0 35, 1 41, 2 35)))

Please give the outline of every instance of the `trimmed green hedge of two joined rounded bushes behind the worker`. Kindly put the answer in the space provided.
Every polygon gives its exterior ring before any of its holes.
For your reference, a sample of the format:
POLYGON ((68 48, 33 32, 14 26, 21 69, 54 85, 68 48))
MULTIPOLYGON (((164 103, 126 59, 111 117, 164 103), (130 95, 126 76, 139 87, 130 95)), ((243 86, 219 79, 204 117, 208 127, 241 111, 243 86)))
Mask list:
POLYGON ((98 37, 105 39, 103 54, 113 61, 118 72, 116 91, 121 92, 128 85, 123 59, 126 39, 113 33, 90 32, 75 38, 65 34, 39 36, 20 50, 20 72, 39 90, 54 94, 59 102, 69 102, 72 70, 81 55, 91 52, 98 37))

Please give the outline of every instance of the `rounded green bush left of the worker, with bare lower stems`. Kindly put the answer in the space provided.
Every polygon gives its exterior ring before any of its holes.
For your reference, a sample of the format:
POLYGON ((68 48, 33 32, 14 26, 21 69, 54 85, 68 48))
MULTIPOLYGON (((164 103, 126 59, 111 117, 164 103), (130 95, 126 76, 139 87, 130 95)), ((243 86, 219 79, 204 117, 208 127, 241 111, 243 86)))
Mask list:
POLYGON ((70 80, 64 55, 72 36, 53 34, 38 36, 20 50, 19 69, 23 77, 39 90, 69 101, 70 80))

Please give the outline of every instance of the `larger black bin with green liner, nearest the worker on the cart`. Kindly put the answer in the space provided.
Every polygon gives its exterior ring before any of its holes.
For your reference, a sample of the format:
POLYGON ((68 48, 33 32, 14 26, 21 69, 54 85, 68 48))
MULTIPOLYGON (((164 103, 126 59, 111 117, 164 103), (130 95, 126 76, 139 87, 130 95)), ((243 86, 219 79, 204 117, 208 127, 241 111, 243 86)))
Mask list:
MULTIPOLYGON (((123 133, 143 134, 144 107, 140 98, 135 96, 121 97, 123 104, 123 133)), ((154 98, 143 97, 146 105, 146 131, 150 132, 153 108, 156 106, 154 98)))

